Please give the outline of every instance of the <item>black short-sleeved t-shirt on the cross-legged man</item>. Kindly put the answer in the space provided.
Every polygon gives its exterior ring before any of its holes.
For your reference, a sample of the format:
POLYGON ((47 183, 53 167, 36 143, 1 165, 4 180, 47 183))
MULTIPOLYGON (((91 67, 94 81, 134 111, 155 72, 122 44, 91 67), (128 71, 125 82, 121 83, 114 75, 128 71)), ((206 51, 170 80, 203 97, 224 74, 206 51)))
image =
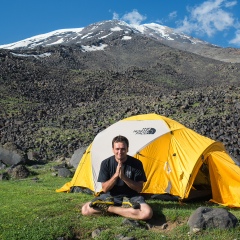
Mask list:
MULTIPOLYGON (((111 156, 102 161, 100 172, 98 175, 98 182, 108 181, 116 172, 118 162, 115 159, 115 156, 111 156)), ((124 174, 136 181, 146 182, 147 178, 143 169, 142 162, 134 157, 127 156, 127 161, 123 163, 124 174)), ((117 179, 116 184, 110 190, 112 196, 124 195, 127 197, 132 197, 138 195, 138 192, 134 191, 120 178, 117 179)))

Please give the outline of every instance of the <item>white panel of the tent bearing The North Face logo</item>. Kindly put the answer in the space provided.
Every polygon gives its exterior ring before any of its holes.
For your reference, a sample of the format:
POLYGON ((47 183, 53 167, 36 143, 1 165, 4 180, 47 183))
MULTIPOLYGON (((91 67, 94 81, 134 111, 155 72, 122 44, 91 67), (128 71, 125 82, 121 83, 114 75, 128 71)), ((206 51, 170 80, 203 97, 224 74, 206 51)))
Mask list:
POLYGON ((101 183, 97 183, 100 165, 102 160, 113 155, 112 139, 114 137, 118 135, 127 137, 129 140, 128 155, 133 156, 154 139, 169 131, 169 127, 163 120, 144 120, 119 121, 100 132, 93 141, 91 151, 94 184, 97 191, 101 190, 101 183))

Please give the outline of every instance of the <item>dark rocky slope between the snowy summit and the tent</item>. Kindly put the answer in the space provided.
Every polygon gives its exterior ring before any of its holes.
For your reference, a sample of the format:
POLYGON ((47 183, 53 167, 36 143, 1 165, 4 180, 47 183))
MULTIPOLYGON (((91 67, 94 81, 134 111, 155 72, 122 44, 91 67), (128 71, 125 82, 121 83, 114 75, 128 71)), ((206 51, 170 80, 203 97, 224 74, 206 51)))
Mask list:
POLYGON ((155 112, 240 159, 240 64, 123 34, 86 40, 96 51, 82 44, 0 50, 1 144, 44 161, 69 157, 112 123, 155 112))

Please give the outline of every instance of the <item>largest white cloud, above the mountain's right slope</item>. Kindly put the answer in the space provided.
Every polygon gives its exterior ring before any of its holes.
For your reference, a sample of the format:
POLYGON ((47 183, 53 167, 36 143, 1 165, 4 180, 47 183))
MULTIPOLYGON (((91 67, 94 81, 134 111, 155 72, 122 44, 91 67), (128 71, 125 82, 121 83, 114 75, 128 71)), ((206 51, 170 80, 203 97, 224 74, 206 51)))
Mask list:
POLYGON ((188 8, 190 15, 178 21, 178 31, 211 37, 218 31, 228 30, 234 27, 235 22, 229 8, 236 4, 237 1, 208 0, 194 8, 188 8))

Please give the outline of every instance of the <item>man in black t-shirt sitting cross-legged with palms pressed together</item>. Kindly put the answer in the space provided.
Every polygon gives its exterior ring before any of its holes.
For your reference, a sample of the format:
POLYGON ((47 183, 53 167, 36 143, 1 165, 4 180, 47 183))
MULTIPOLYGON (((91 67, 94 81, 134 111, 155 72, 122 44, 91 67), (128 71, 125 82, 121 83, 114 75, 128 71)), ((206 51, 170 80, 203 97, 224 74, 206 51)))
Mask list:
POLYGON ((147 220, 151 207, 139 195, 147 181, 141 161, 127 155, 128 139, 117 136, 112 140, 113 156, 101 163, 98 182, 102 183, 99 197, 82 207, 83 215, 108 212, 126 218, 147 220))

